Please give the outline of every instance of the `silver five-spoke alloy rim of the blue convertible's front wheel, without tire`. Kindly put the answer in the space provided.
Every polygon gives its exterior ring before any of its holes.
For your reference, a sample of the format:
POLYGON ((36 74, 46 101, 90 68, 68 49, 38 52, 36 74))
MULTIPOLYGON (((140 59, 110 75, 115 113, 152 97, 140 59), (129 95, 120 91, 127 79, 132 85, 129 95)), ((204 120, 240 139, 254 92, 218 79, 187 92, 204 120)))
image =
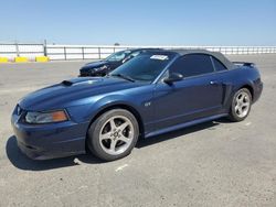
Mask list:
POLYGON ((134 140, 134 124, 125 116, 109 118, 99 131, 100 148, 110 155, 124 153, 134 140))

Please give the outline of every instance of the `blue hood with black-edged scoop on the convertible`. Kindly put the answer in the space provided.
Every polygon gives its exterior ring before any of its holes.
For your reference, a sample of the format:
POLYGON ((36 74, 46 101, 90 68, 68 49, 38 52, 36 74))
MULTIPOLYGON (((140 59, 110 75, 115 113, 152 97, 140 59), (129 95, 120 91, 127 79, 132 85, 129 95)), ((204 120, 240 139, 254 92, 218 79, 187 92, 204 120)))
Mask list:
POLYGON ((85 98, 104 96, 128 88, 139 87, 141 83, 131 83, 115 77, 88 77, 64 80, 25 96, 20 107, 31 111, 45 111, 83 105, 85 98))

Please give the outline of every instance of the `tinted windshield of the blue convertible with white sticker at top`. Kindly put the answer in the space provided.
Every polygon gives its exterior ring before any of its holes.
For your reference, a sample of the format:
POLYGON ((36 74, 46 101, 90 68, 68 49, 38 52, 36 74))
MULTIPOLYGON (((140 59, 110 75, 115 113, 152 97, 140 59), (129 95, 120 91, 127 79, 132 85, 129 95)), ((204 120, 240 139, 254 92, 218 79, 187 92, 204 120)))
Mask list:
POLYGON ((125 76, 132 80, 153 81, 171 62, 173 54, 141 54, 113 70, 110 76, 125 76))

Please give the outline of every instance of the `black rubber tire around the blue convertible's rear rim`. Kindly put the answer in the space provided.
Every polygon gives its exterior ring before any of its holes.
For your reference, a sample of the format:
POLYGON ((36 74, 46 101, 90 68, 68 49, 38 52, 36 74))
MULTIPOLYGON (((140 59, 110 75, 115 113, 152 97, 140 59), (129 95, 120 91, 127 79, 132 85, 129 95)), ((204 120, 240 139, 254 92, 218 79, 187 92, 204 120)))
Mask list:
POLYGON ((251 106, 252 106, 252 94, 251 94, 251 91, 247 88, 242 88, 242 89, 237 90, 234 94, 232 102, 231 102, 230 115, 229 115, 230 120, 234 121, 234 122, 238 122, 238 121, 243 121, 244 119, 246 119, 246 117, 250 115, 251 106), (247 95, 248 108, 246 109, 246 112, 244 112, 243 115, 238 115, 238 112, 235 110, 236 99, 242 94, 247 95))

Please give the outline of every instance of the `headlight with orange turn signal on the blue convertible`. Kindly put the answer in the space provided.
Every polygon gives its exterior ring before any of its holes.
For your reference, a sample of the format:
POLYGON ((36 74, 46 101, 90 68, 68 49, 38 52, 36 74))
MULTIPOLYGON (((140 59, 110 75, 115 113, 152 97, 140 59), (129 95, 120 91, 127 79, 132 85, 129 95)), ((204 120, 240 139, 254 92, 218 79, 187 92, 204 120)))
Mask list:
POLYGON ((51 112, 26 112, 25 122, 28 123, 54 123, 61 121, 67 121, 67 115, 65 111, 51 111, 51 112))

